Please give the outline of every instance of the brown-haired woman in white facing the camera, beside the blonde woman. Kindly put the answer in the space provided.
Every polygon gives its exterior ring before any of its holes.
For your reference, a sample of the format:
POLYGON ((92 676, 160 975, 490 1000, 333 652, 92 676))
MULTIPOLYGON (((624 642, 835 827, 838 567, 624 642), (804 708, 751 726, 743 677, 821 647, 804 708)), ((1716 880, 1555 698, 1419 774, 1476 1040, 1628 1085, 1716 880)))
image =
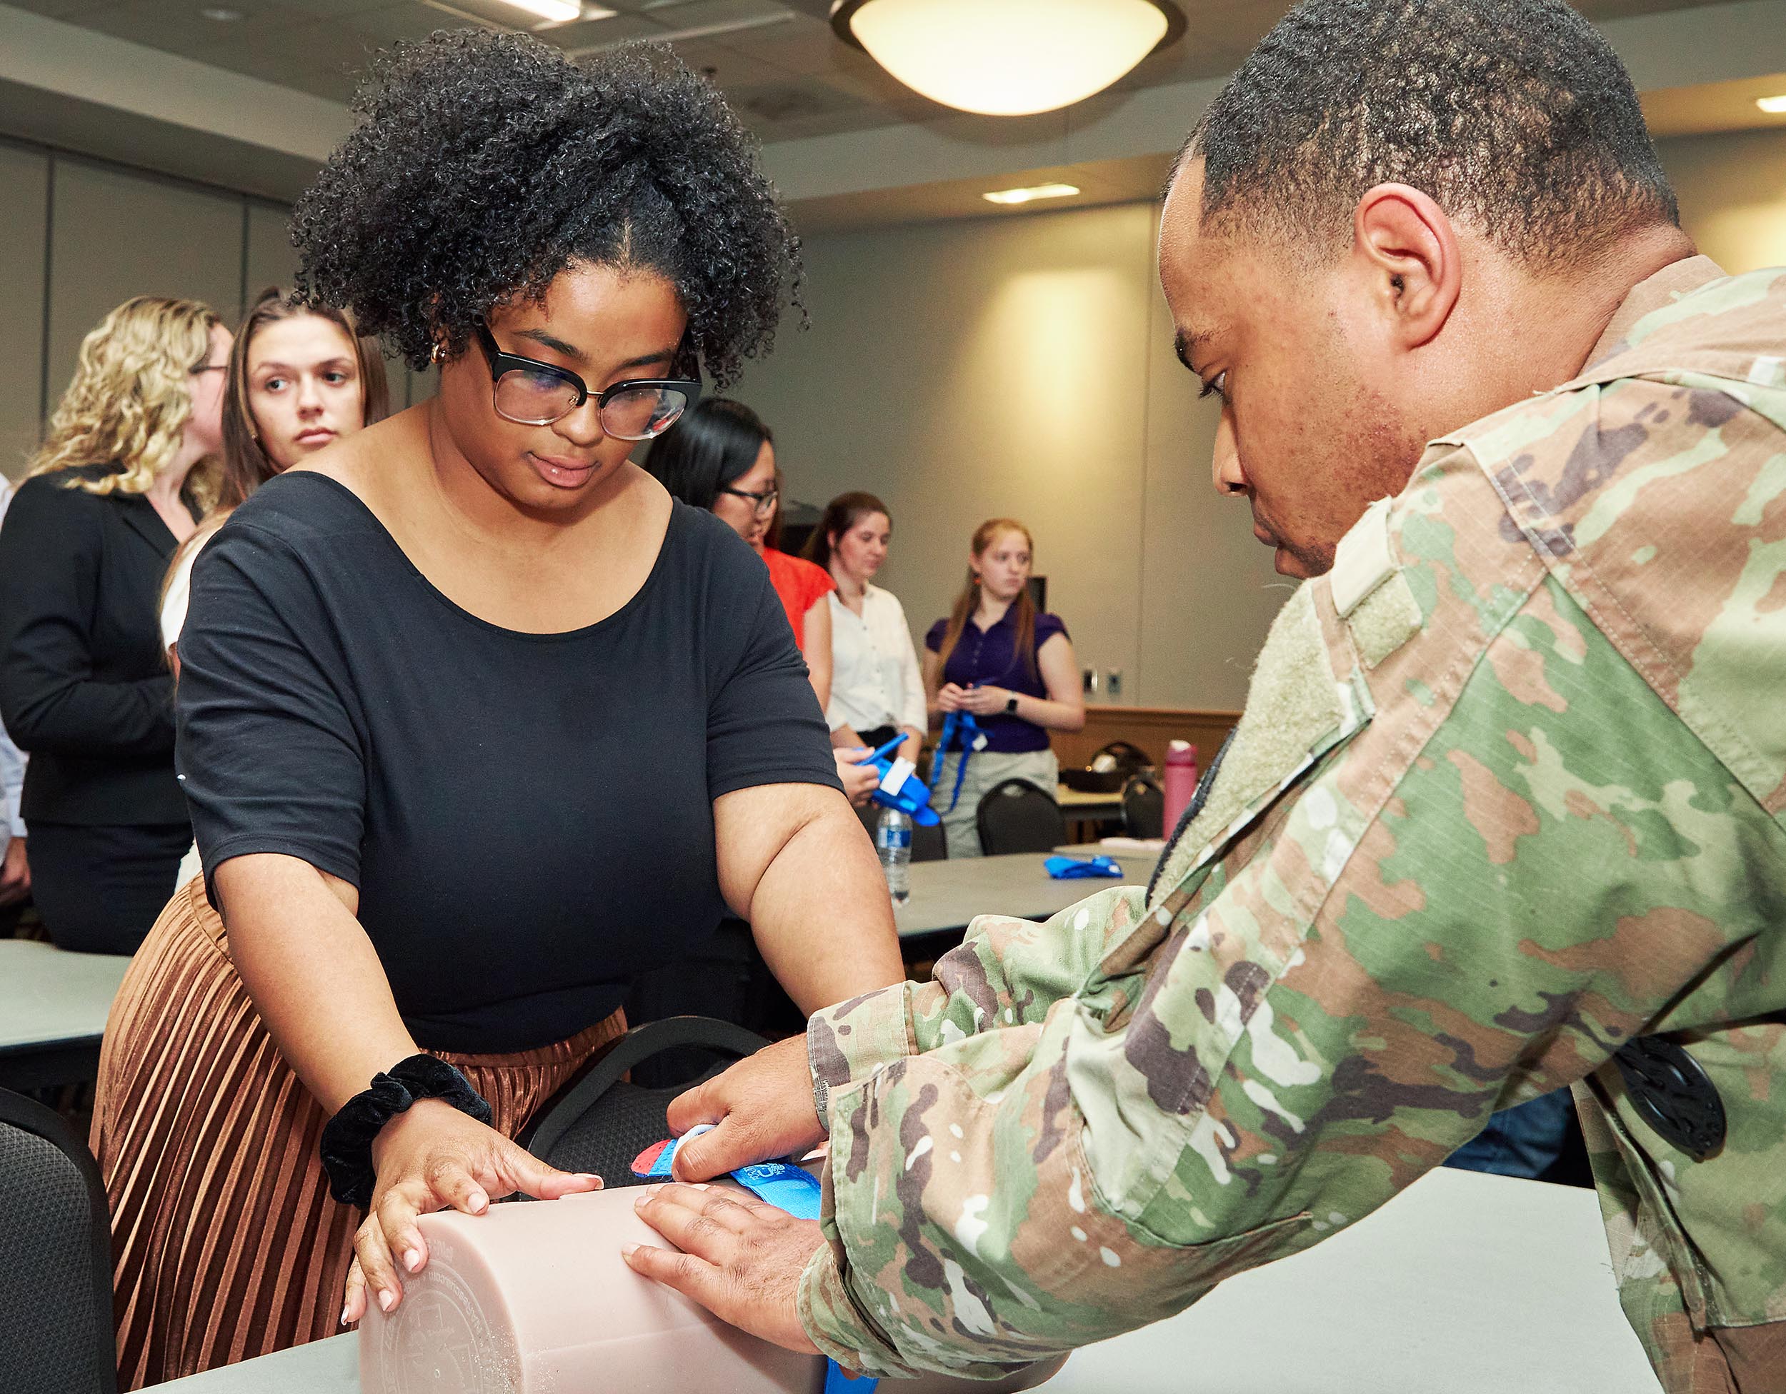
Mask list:
POLYGON ((352 319, 268 287, 236 330, 223 394, 223 468, 216 507, 179 550, 161 598, 161 643, 175 676, 193 560, 266 480, 391 411, 384 357, 352 319))

